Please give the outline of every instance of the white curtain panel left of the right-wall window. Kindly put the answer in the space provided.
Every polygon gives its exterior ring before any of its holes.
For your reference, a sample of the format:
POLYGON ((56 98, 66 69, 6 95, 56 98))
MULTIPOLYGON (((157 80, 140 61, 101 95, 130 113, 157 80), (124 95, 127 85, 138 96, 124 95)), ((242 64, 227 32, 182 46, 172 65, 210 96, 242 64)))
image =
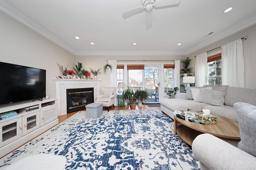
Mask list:
POLYGON ((207 84, 207 53, 202 53, 196 56, 196 66, 195 66, 195 86, 204 86, 207 84))

